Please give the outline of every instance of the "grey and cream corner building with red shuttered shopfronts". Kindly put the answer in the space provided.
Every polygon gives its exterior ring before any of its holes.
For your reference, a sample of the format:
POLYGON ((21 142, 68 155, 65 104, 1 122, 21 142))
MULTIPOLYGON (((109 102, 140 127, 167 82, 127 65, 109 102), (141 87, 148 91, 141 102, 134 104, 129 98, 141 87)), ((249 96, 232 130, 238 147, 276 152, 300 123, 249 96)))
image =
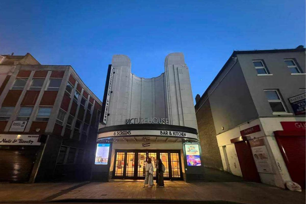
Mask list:
POLYGON ((196 96, 195 109, 209 167, 282 188, 289 180, 305 187, 303 46, 234 51, 196 96), (203 122, 211 117, 214 125, 203 122))

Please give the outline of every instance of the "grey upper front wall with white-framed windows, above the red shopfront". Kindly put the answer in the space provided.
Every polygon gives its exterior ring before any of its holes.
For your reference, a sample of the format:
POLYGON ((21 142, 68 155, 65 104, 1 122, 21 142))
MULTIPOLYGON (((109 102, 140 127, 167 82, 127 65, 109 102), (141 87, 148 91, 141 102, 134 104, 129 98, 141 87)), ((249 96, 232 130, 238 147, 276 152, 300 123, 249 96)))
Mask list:
MULTIPOLYGON (((279 89, 290 113, 294 113, 288 98, 304 93, 305 75, 291 75, 284 59, 294 58, 305 73, 305 52, 284 52, 264 54, 237 54, 259 117, 278 117, 272 114, 264 89, 279 89), (263 59, 273 76, 257 76, 252 60, 263 59)), ((282 115, 282 117, 286 117, 282 115)), ((292 117, 292 115, 288 115, 292 117)), ((299 115, 296 117, 305 117, 299 115)))

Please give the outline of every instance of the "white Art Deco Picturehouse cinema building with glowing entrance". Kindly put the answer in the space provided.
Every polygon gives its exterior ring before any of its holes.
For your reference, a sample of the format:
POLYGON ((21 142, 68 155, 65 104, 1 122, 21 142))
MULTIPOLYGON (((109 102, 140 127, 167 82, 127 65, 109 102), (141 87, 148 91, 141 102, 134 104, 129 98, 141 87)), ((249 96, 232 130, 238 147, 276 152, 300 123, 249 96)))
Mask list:
MULTIPOLYGON (((203 177, 189 69, 182 53, 165 59, 153 78, 131 73, 125 55, 108 67, 93 180, 143 179, 144 163, 160 158, 168 180, 203 177)), ((156 175, 156 169, 154 176, 156 175)))

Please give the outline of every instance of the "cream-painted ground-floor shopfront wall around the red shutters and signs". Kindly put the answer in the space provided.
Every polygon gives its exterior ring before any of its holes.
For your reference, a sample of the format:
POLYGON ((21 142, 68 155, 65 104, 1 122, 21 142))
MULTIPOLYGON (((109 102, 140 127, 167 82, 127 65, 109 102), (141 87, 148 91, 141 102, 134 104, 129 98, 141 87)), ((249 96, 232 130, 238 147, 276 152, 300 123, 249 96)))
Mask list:
POLYGON ((273 173, 260 173, 260 180, 264 184, 275 185, 285 188, 285 182, 291 180, 285 161, 279 150, 278 144, 274 137, 274 131, 283 130, 281 121, 305 121, 304 117, 260 117, 247 123, 241 124, 226 132, 222 132, 217 135, 218 147, 220 150, 223 169, 230 171, 234 175, 242 176, 237 152, 234 143, 230 140, 240 136, 240 131, 253 127, 255 125, 260 126, 259 132, 247 135, 248 140, 252 139, 264 139, 269 158, 271 159, 273 173), (224 146, 226 147, 226 154, 224 152, 224 146), (226 157, 228 162, 226 162, 226 157), (229 165, 229 166, 228 166, 229 165))

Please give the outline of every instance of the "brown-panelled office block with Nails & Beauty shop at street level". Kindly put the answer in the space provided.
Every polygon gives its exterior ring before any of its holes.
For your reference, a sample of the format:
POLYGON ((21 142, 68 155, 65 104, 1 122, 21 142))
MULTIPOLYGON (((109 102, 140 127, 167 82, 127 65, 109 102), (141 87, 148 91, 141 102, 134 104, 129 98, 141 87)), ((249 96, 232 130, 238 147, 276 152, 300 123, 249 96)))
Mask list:
POLYGON ((0 56, 0 181, 89 179, 102 102, 71 66, 0 56))

